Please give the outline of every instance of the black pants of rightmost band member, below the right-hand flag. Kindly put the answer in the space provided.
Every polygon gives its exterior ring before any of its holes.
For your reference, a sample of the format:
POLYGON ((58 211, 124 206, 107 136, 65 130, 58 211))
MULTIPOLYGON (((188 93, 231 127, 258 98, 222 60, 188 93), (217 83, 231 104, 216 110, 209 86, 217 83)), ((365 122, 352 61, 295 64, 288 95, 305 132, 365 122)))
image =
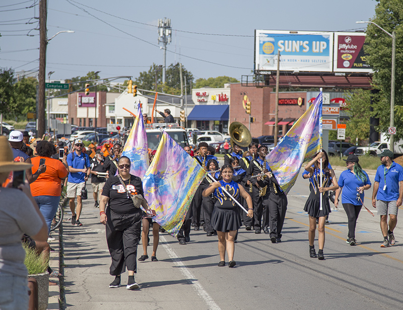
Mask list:
POLYGON ((281 238, 284 220, 287 212, 287 196, 284 193, 270 193, 263 199, 263 205, 268 208, 268 226, 270 237, 281 238))

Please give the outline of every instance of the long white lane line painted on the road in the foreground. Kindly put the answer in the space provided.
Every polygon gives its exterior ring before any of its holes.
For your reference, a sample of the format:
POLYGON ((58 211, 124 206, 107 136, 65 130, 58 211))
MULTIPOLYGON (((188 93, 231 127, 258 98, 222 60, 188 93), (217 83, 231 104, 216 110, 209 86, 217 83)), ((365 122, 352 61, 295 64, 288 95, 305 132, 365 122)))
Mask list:
POLYGON ((193 289, 197 292, 197 295, 199 295, 201 298, 204 299, 204 301, 207 303, 209 309, 211 310, 221 310, 221 308, 218 306, 218 304, 211 298, 209 293, 201 286, 200 282, 195 279, 193 274, 190 272, 189 269, 186 268, 186 266, 181 262, 179 257, 176 255, 176 253, 172 250, 172 248, 169 246, 167 243, 167 240, 165 239, 164 236, 160 235, 160 241, 162 240, 162 246, 164 247, 165 251, 168 253, 169 257, 171 260, 174 262, 174 264, 179 267, 180 272, 189 280, 192 282, 193 289))

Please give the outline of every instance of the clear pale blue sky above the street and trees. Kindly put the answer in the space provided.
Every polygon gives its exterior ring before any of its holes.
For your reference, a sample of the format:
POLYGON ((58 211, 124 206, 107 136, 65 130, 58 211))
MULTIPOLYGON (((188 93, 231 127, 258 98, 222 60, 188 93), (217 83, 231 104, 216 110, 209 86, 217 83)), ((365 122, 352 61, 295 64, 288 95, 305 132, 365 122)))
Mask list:
MULTIPOLYGON (((37 19, 25 24, 38 17, 38 6, 23 9, 35 1, 0 1, 0 67, 16 72, 39 67, 39 31, 29 32, 39 28, 37 19)), ((169 18, 167 65, 180 61, 195 79, 226 75, 240 80, 253 70, 255 29, 365 30, 365 24, 355 22, 372 18, 375 5, 374 0, 52 0, 48 38, 61 30, 75 33, 61 33, 49 42, 46 76, 54 71, 52 79, 66 79, 101 71, 101 78, 136 78, 153 63, 163 64, 156 26, 158 19, 169 18)))

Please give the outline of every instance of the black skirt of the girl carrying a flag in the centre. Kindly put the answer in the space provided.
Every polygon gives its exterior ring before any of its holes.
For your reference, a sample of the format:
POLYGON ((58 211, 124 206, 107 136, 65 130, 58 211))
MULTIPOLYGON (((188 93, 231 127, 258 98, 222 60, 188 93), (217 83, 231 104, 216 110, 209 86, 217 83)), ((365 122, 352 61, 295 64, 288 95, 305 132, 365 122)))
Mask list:
POLYGON ((224 201, 223 206, 219 201, 216 202, 211 216, 211 226, 214 230, 229 232, 230 230, 238 230, 242 226, 238 206, 231 207, 231 201, 224 201))

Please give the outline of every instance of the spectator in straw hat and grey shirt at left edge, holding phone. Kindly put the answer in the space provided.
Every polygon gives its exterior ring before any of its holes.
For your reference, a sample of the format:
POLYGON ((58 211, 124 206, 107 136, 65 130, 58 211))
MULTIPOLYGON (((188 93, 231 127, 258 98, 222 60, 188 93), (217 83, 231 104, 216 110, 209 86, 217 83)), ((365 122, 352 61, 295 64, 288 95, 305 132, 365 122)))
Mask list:
MULTIPOLYGON (((1 183, 6 181, 11 171, 31 169, 31 164, 13 162, 13 159, 7 138, 0 137, 1 183)), ((3 188, 0 201, 0 283, 5 284, 0 290, 1 308, 28 309, 28 272, 21 238, 26 233, 35 240, 46 241, 46 222, 31 196, 28 182, 21 184, 19 190, 3 188)))

